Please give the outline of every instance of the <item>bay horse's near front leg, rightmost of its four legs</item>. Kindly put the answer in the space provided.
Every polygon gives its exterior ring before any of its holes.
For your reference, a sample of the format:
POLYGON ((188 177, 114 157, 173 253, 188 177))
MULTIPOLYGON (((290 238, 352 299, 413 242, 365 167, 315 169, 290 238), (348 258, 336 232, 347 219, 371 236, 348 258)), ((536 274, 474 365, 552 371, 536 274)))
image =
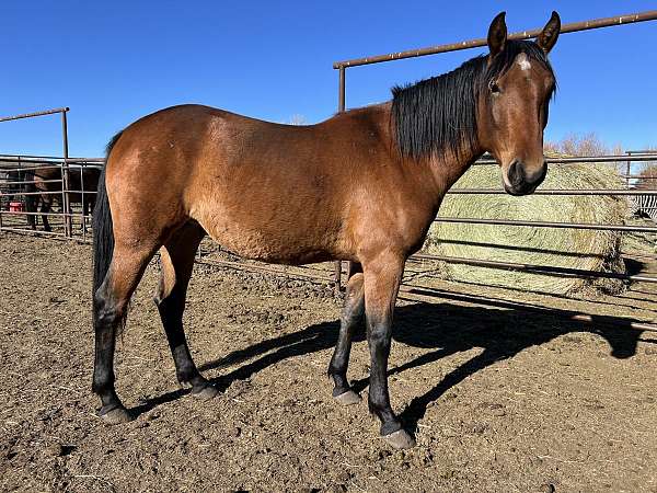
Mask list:
POLYGON ((392 314, 404 272, 404 257, 379 254, 365 267, 365 313, 370 349, 369 410, 381 420, 381 436, 394 448, 411 448, 415 439, 402 427, 392 411, 388 393, 388 356, 392 337, 392 314))

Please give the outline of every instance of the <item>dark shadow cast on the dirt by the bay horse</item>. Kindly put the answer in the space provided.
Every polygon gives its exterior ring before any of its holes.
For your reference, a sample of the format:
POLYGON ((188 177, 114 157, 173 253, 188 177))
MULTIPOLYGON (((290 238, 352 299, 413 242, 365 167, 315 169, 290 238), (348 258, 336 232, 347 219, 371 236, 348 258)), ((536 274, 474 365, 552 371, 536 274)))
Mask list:
MULTIPOLYGON (((457 298, 458 296, 454 296, 457 298)), ((508 308, 514 303, 493 301, 496 308, 508 308)), ((496 362, 511 358, 532 346, 553 341, 556 337, 586 332, 603 337, 611 347, 611 355, 629 358, 636 354, 639 341, 657 344, 657 339, 641 339, 643 330, 631 326, 631 320, 593 316, 592 323, 569 320, 575 312, 526 306, 511 310, 452 305, 449 302, 416 302, 395 309, 393 340, 396 344, 430 349, 415 359, 389 369, 389 375, 397 375, 411 368, 429 365, 456 353, 483 348, 450 374, 446 375, 426 393, 414 398, 401 417, 414 428, 425 416, 427 408, 450 388, 496 362)), ((224 391, 233 381, 244 380, 254 374, 287 358, 303 356, 333 348, 337 341, 338 321, 311 325, 299 332, 269 339, 246 348, 229 353, 219 359, 199 366, 199 370, 215 370, 243 364, 226 375, 216 377, 212 382, 224 391)), ((365 329, 359 328, 354 341, 365 340, 365 329)), ((394 344, 393 348, 394 351, 394 344)), ((326 365, 328 362, 326 360, 326 365)), ((368 378, 351 382, 354 389, 362 391, 368 378)), ((327 392, 328 382, 327 382, 327 392)), ((145 401, 135 408, 141 414, 162 403, 180 399, 188 393, 177 390, 145 401)))

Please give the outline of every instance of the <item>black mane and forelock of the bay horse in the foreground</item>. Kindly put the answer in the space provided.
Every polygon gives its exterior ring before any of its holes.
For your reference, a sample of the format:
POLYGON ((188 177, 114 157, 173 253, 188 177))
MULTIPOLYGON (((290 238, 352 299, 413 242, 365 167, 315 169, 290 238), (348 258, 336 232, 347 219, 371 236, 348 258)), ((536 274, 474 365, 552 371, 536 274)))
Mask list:
POLYGON ((534 42, 507 41, 489 66, 488 57, 482 55, 442 76, 394 87, 392 118, 402 156, 419 159, 439 151, 459 156, 464 145, 476 145, 477 99, 520 53, 552 72, 545 53, 534 42))

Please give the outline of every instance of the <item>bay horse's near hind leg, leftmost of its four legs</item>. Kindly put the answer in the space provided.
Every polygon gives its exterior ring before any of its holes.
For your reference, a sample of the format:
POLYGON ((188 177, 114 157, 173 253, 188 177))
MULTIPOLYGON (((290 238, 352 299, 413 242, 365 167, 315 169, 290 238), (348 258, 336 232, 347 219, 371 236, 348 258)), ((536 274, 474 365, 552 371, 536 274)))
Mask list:
POLYGON ((155 249, 115 245, 110 270, 93 298, 95 358, 92 390, 101 398, 99 414, 108 424, 132 419, 114 388, 114 349, 130 297, 155 249))

